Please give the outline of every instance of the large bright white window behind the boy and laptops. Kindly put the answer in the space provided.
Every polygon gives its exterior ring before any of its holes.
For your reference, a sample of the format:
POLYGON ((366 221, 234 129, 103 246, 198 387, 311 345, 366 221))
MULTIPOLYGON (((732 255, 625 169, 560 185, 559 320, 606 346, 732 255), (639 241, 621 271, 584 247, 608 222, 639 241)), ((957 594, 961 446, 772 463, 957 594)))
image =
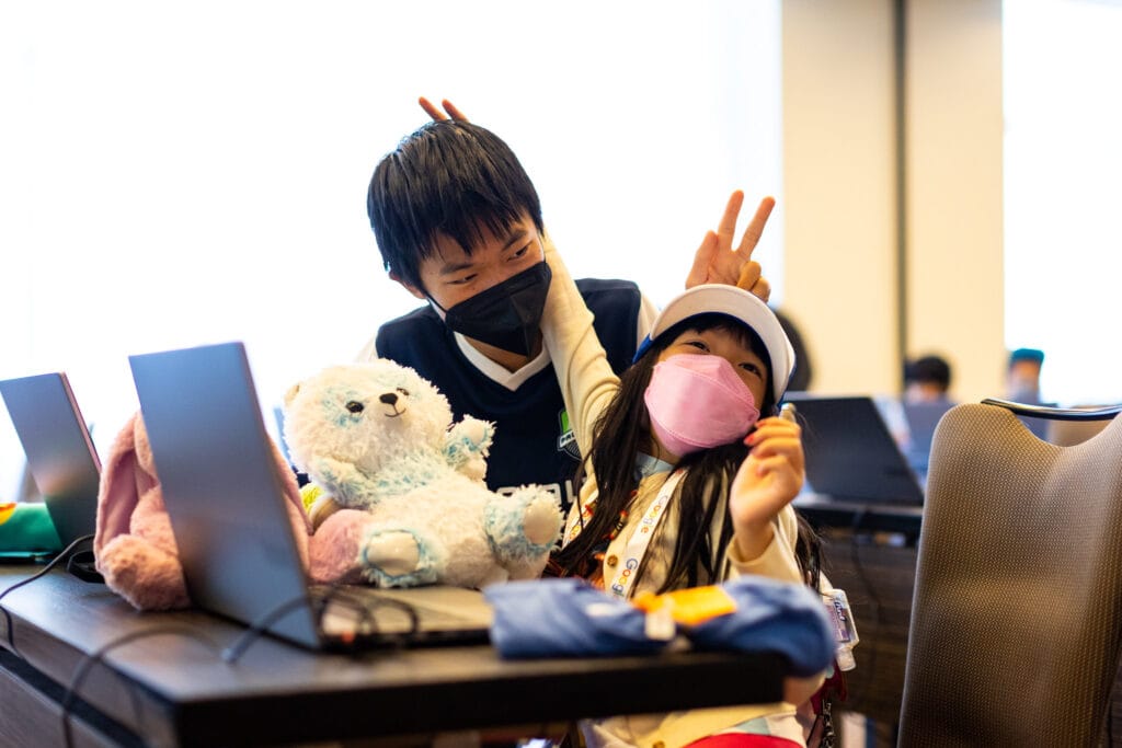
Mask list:
MULTIPOLYGON (((351 360, 417 304, 366 188, 419 95, 512 145, 574 275, 661 303, 734 188, 781 197, 779 45, 779 0, 2 3, 0 377, 66 370, 104 454, 130 353, 242 340, 266 407, 351 360)), ((21 463, 3 413, 0 501, 21 463)))

